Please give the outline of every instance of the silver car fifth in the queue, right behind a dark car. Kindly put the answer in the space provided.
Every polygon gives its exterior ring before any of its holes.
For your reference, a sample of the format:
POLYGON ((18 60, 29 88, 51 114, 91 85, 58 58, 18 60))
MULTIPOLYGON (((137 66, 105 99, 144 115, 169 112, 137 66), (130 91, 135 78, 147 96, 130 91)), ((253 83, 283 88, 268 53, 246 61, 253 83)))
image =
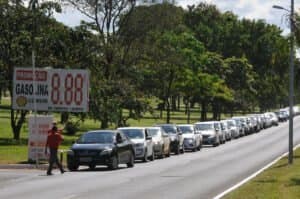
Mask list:
POLYGON ((185 150, 199 151, 202 147, 202 135, 200 131, 196 131, 192 124, 177 125, 182 132, 183 144, 185 150))

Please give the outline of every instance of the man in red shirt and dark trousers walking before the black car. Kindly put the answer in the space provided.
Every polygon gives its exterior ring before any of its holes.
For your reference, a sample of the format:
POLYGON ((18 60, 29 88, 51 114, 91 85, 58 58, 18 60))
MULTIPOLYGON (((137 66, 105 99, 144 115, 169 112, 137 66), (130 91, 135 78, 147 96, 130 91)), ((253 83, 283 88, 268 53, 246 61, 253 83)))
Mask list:
POLYGON ((49 167, 47 170, 47 175, 52 175, 51 171, 53 163, 56 163, 62 174, 65 172, 57 157, 57 150, 62 141, 63 137, 58 131, 56 123, 54 122, 52 129, 48 132, 47 142, 45 146, 45 154, 47 154, 47 147, 49 147, 50 149, 49 167))

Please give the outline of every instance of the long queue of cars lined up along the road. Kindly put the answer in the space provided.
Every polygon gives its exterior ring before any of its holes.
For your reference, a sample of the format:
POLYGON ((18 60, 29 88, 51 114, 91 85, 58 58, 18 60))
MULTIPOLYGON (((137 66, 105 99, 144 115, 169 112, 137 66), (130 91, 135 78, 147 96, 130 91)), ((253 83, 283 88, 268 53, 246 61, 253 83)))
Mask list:
MULTIPOLYGON (((298 112, 297 112, 298 113, 298 112)), ((289 118, 287 109, 264 114, 232 117, 195 124, 157 124, 151 127, 122 127, 84 133, 67 153, 67 167, 75 171, 81 165, 95 169, 119 164, 133 167, 136 160, 154 161, 185 151, 199 151, 204 144, 218 146, 232 139, 259 132, 289 118)))

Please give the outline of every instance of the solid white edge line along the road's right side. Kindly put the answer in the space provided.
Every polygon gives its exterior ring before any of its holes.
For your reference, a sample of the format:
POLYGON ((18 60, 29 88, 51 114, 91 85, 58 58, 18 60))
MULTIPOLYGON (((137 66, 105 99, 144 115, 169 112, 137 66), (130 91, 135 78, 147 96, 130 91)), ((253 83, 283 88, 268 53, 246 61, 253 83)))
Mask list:
MULTIPOLYGON (((300 144, 294 147, 294 151, 296 149, 298 149, 300 147, 300 144)), ((276 158, 274 161, 272 161, 271 163, 269 163, 267 166, 263 167, 262 169, 258 170, 257 172, 253 173, 252 175, 250 175, 249 177, 245 178, 244 180, 242 180, 241 182, 237 183, 236 185, 230 187, 229 189, 225 190, 224 192, 220 193, 219 195, 215 196, 214 199, 220 199, 222 197, 224 197, 226 194, 232 192, 233 190, 239 188, 240 186, 242 186, 243 184, 245 184, 246 182, 252 180, 253 178, 255 178, 258 174, 262 173, 263 171, 265 171, 266 169, 270 168, 271 166, 273 166, 275 163, 277 163, 280 159, 282 159, 283 157, 287 156, 288 152, 282 154, 281 156, 279 156, 278 158, 276 158)))

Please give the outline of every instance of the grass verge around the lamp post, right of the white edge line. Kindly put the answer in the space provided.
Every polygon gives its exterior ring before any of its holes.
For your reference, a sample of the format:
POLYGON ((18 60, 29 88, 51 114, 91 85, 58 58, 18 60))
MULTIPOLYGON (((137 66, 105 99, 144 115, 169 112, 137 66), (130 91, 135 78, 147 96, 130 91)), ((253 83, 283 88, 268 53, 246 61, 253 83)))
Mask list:
POLYGON ((300 149, 294 155, 293 165, 285 157, 224 199, 300 198, 300 149))

